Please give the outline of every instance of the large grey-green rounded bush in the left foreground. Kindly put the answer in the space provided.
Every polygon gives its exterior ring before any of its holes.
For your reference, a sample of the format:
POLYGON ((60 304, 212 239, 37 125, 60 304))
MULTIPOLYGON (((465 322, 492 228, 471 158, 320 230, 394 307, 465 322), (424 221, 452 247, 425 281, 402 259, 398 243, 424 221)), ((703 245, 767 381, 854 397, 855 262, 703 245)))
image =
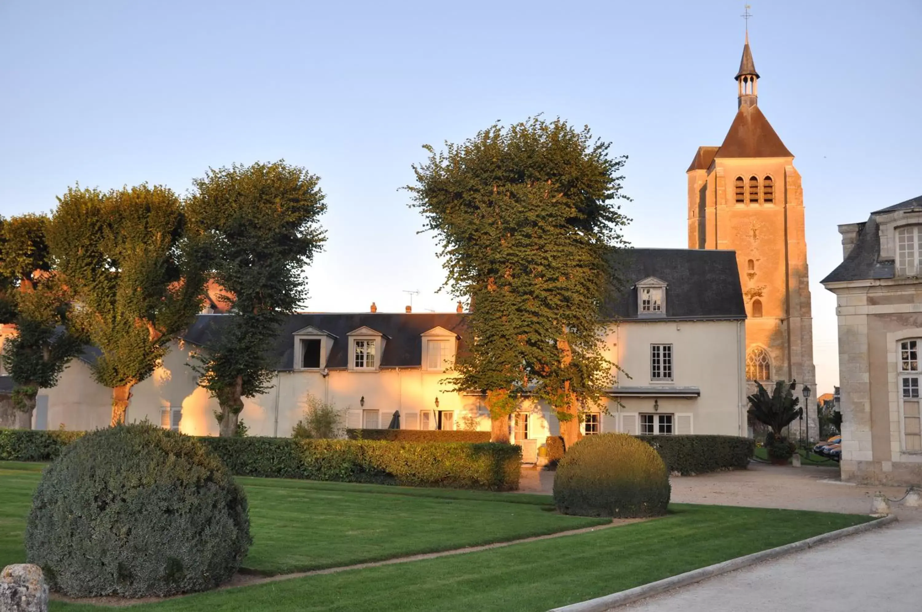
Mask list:
POLYGON ((72 596, 210 589, 251 542, 246 495, 218 455, 148 423, 65 447, 41 476, 26 527, 29 562, 72 596))

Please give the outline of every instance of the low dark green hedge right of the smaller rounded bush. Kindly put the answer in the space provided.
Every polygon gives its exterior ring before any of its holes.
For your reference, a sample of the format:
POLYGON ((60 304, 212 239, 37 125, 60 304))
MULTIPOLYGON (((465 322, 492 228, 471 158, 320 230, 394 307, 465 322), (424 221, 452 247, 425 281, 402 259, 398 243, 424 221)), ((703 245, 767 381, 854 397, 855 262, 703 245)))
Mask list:
POLYGON ((744 470, 755 453, 755 441, 738 436, 636 436, 656 449, 670 473, 682 476, 720 470, 744 470))

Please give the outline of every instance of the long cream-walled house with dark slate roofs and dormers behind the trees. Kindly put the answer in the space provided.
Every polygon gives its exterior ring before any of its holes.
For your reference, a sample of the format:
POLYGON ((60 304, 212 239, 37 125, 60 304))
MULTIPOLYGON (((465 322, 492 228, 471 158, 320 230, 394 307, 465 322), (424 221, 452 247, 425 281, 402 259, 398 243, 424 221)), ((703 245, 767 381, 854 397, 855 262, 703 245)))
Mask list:
MULTIPOLYGON (((732 251, 632 249, 621 291, 605 308, 613 371, 604 409, 586 415, 602 431, 746 435, 745 307, 732 251)), ((192 435, 217 435, 217 401, 197 386, 192 353, 221 333, 230 314, 201 314, 148 380, 133 391, 129 421, 148 419, 192 435)), ((289 436, 313 394, 339 407, 349 428, 490 430, 478 394, 446 393, 445 369, 464 313, 297 313, 273 347, 275 384, 245 398, 250 435, 289 436)), ((93 382, 89 349, 60 383, 42 390, 35 429, 106 427, 111 392, 93 382)), ((526 404, 511 419, 526 459, 559 423, 547 406, 526 404)))

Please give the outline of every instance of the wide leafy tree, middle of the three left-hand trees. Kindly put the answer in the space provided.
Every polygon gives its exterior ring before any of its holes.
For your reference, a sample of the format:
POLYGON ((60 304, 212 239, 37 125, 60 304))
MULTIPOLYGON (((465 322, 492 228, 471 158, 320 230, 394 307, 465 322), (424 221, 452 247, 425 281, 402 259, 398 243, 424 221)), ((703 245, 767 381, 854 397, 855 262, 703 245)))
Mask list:
POLYGON ((184 235, 180 199, 141 184, 102 193, 68 188, 48 233, 74 324, 99 347, 93 377, 112 389, 112 425, 202 303, 202 258, 184 235))

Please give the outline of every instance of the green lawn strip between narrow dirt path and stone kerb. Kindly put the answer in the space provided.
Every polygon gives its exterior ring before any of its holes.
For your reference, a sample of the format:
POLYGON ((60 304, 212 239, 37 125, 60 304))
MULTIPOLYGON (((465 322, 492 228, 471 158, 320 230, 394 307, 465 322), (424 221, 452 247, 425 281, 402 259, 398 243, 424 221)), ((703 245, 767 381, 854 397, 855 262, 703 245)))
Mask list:
MULTIPOLYGON (((133 606, 140 612, 264 609, 538 611, 781 546, 866 516, 675 504, 664 518, 466 555, 311 576, 133 606)), ((100 607, 53 603, 53 611, 100 607)))

